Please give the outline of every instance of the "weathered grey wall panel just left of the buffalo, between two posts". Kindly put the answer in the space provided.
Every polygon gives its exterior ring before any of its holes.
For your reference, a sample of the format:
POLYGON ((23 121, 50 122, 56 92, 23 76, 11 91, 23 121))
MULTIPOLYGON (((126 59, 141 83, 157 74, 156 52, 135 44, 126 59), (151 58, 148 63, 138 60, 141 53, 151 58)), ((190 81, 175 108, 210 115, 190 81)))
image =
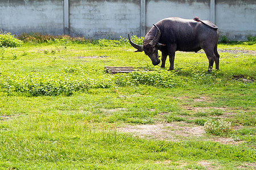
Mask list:
POLYGON ((140 35, 140 1, 69 0, 69 25, 72 36, 93 39, 140 35))

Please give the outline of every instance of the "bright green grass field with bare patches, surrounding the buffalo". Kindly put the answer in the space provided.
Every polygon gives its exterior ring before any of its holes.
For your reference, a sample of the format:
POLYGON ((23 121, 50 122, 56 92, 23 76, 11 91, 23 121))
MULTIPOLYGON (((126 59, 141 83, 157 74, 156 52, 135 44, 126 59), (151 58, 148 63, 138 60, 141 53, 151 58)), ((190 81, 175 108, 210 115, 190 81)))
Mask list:
POLYGON ((167 71, 126 42, 0 48, 0 169, 255 169, 256 45, 218 50, 208 74, 203 51, 167 71))

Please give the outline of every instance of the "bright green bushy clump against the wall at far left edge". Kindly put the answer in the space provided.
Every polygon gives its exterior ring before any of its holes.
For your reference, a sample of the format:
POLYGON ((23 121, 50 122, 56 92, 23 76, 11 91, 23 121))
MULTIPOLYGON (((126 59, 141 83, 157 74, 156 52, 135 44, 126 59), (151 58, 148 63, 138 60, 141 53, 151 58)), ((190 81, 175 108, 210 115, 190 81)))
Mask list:
POLYGON ((0 47, 18 47, 22 43, 21 40, 16 39, 10 32, 0 31, 0 47))

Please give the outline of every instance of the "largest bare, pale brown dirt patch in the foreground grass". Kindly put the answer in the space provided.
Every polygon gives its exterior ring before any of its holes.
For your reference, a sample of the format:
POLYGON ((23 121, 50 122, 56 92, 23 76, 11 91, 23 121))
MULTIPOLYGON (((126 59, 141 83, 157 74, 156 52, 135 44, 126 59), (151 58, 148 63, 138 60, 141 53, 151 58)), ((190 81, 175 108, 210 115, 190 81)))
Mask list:
POLYGON ((117 128, 118 131, 130 133, 136 137, 158 139, 164 141, 176 141, 201 138, 204 141, 220 142, 223 144, 237 145, 244 141, 233 138, 207 137, 204 126, 186 124, 184 122, 156 123, 153 125, 127 125, 117 128))

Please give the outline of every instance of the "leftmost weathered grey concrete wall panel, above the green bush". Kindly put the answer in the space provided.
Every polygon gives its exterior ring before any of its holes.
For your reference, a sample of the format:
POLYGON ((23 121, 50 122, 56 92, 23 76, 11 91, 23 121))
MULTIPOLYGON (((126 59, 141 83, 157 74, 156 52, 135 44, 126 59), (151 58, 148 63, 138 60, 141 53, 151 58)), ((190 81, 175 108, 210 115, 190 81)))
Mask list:
POLYGON ((0 29, 22 32, 63 33, 62 0, 0 1, 0 29))

